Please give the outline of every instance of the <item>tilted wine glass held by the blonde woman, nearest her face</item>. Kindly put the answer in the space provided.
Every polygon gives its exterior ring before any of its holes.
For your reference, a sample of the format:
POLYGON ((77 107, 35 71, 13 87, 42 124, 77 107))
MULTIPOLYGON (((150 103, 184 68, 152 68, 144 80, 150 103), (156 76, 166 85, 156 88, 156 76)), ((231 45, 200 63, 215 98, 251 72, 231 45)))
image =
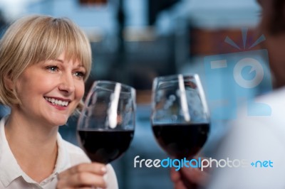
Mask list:
POLYGON ((135 131, 135 89, 119 82, 93 83, 78 119, 78 139, 91 161, 110 163, 130 146, 135 131))

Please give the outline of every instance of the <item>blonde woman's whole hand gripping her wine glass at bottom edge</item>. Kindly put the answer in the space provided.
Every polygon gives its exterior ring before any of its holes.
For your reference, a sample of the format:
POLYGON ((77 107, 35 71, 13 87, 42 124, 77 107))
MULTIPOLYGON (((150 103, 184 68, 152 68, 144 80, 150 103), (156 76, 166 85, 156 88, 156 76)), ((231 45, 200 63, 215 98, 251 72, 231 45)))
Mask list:
POLYGON ((106 188, 103 178, 106 171, 102 163, 81 163, 58 174, 56 188, 106 188))

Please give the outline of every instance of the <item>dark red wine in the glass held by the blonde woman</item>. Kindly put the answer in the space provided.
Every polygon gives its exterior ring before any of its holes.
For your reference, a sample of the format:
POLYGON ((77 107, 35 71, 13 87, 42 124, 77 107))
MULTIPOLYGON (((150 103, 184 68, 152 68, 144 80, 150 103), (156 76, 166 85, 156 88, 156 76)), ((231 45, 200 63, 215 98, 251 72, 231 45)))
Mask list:
POLYGON ((93 131, 79 130, 81 146, 91 161, 110 163, 130 146, 133 130, 93 131))

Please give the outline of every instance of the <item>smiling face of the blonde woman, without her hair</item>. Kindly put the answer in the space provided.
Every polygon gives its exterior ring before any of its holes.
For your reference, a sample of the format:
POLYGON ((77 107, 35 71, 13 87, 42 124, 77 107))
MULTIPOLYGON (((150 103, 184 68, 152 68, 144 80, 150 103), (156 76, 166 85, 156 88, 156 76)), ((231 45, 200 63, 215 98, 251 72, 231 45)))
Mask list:
POLYGON ((15 104, 12 112, 51 126, 66 124, 83 97, 85 74, 81 63, 66 59, 64 53, 29 66, 16 80, 21 104, 15 104))

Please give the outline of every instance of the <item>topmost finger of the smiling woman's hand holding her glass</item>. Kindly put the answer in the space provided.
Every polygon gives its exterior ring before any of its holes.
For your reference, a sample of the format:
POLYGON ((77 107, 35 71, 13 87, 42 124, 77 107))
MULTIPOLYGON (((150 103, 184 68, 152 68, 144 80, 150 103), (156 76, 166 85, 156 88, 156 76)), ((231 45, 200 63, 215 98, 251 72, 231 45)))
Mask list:
POLYGON ((81 163, 72 168, 68 168, 66 171, 63 171, 58 175, 59 179, 65 178, 68 175, 73 175, 76 173, 89 172, 97 175, 104 175, 107 171, 107 168, 102 163, 81 163))

